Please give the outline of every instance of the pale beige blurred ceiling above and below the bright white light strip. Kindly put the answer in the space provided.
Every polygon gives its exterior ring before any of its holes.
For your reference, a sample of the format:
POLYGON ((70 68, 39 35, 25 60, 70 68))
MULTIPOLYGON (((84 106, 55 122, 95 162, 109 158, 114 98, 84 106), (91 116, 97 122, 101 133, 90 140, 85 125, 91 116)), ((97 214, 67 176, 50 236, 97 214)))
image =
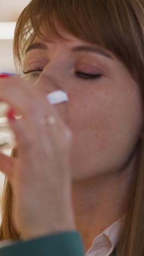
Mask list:
MULTIPOLYGON (((0 0, 2 2, 0 9, 0 22, 16 21, 21 11, 30 0, 0 0)), ((1 32, 1 31, 0 31, 1 32)), ((13 61, 13 40, 0 40, 0 73, 15 73, 13 61)))

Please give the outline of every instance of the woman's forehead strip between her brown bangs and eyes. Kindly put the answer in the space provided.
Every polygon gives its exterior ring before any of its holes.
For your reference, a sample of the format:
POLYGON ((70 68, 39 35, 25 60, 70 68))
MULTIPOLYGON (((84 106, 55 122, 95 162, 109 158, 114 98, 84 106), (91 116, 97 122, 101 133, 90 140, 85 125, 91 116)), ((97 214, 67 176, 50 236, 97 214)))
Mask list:
MULTIPOLYGON (((54 28, 56 30, 53 30, 52 27, 49 24, 43 24, 40 28, 40 33, 42 36, 35 36, 32 45, 28 47, 30 49, 48 49, 46 43, 51 43, 51 44, 58 44, 58 43, 64 43, 67 44, 73 52, 78 52, 78 51, 89 51, 93 53, 98 53, 102 54, 106 57, 109 57, 109 59, 114 59, 113 54, 101 47, 98 44, 94 43, 89 43, 86 40, 82 40, 73 34, 71 34, 67 28, 62 26, 60 22, 58 22, 57 19, 53 21, 54 28)), ((27 51, 26 51, 27 53, 27 51)))

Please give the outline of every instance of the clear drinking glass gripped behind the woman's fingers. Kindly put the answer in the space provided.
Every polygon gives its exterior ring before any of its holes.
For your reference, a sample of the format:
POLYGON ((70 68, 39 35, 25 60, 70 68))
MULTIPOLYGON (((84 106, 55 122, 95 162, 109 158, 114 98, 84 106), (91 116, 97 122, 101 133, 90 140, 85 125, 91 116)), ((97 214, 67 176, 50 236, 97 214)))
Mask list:
MULTIPOLYGON (((33 88, 37 82, 39 75, 42 71, 34 71, 27 74, 22 74, 20 78, 32 83, 33 88)), ((1 94, 1 92, 0 92, 1 94)), ((9 104, 0 102, 0 152, 4 153, 5 150, 16 147, 16 141, 13 131, 10 129, 6 113, 10 108, 9 104)), ((21 116, 16 116, 16 119, 21 116)))

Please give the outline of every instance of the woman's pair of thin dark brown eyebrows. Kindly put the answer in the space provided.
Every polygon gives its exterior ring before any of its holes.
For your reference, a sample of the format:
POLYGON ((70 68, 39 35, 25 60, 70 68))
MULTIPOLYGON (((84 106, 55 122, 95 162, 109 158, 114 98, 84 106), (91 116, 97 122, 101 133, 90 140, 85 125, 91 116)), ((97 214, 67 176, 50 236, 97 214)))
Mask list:
MULTIPOLYGON (((28 46, 28 48, 26 49, 26 52, 25 54, 28 53, 28 51, 31 51, 33 49, 42 49, 42 50, 47 50, 48 47, 46 44, 43 44, 43 43, 33 43, 31 45, 28 46)), ((91 53, 97 53, 97 54, 100 54, 100 55, 103 55, 105 57, 108 57, 109 59, 113 59, 113 57, 108 54, 105 50, 103 49, 100 49, 100 48, 97 48, 95 46, 88 46, 88 45, 80 45, 80 46, 75 46, 74 48, 71 49, 71 51, 73 53, 76 53, 78 51, 88 51, 88 52, 91 52, 91 53)))

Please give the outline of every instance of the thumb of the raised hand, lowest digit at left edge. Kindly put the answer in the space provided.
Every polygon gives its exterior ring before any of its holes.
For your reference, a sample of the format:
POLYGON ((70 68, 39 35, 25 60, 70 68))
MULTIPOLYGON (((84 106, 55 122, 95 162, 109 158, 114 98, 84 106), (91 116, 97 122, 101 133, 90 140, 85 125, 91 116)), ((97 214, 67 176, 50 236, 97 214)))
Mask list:
POLYGON ((10 180, 13 177, 16 163, 16 159, 0 153, 0 171, 3 172, 10 180))

